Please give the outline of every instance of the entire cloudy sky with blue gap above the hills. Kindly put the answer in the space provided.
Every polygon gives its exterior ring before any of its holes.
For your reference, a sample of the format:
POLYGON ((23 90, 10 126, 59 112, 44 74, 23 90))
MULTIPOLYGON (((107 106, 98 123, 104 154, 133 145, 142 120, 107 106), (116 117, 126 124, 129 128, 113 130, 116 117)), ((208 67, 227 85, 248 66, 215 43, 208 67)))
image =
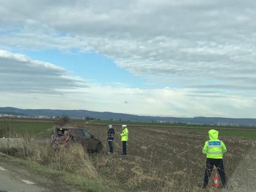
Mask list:
POLYGON ((256 4, 0 0, 0 107, 256 118, 256 4))

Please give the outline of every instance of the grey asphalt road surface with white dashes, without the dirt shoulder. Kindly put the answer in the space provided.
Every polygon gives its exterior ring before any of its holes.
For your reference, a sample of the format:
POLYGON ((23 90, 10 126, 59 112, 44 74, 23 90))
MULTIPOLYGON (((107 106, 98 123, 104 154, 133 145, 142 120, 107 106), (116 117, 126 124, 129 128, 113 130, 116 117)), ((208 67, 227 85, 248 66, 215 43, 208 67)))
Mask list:
POLYGON ((17 172, 7 170, 4 165, 0 163, 0 192, 42 192, 50 191, 43 187, 38 186, 31 179, 26 176, 20 175, 17 172))

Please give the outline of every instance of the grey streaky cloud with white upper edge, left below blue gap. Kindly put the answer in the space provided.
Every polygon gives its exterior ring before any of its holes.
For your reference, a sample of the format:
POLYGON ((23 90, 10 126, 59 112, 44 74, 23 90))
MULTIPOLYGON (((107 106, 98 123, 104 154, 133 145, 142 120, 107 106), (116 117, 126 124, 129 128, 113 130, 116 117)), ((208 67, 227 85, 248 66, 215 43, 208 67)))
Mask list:
POLYGON ((84 79, 68 76, 64 68, 4 50, 0 74, 1 92, 61 94, 59 89, 86 86, 84 79))

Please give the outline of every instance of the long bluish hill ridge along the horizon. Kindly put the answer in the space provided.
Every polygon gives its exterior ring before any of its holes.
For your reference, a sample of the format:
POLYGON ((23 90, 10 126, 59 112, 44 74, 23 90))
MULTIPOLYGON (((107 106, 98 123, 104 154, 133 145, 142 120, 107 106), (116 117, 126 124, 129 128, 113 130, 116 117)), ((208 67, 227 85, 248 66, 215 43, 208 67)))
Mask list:
POLYGON ((122 121, 137 122, 181 122, 181 123, 198 123, 198 124, 239 124, 239 125, 256 125, 254 118, 221 118, 221 117, 154 117, 139 116, 122 113, 97 112, 89 110, 58 110, 58 109, 18 109, 13 107, 0 107, 0 114, 10 115, 27 115, 27 116, 63 116, 67 115, 71 118, 91 117, 95 119, 113 119, 122 121))

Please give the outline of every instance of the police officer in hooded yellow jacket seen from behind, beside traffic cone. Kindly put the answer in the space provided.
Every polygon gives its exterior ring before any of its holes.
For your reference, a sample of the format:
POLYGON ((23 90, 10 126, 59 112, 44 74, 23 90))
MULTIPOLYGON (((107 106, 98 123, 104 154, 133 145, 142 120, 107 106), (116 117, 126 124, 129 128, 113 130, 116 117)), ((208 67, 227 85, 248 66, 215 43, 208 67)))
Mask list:
POLYGON ((206 155, 206 168, 204 174, 203 189, 205 189, 208 185, 208 181, 214 165, 219 172, 223 186, 227 188, 227 177, 222 161, 222 156, 224 153, 226 153, 227 148, 225 146, 225 143, 218 139, 218 131, 212 129, 208 132, 208 134, 210 140, 206 141, 203 147, 203 154, 206 155))

